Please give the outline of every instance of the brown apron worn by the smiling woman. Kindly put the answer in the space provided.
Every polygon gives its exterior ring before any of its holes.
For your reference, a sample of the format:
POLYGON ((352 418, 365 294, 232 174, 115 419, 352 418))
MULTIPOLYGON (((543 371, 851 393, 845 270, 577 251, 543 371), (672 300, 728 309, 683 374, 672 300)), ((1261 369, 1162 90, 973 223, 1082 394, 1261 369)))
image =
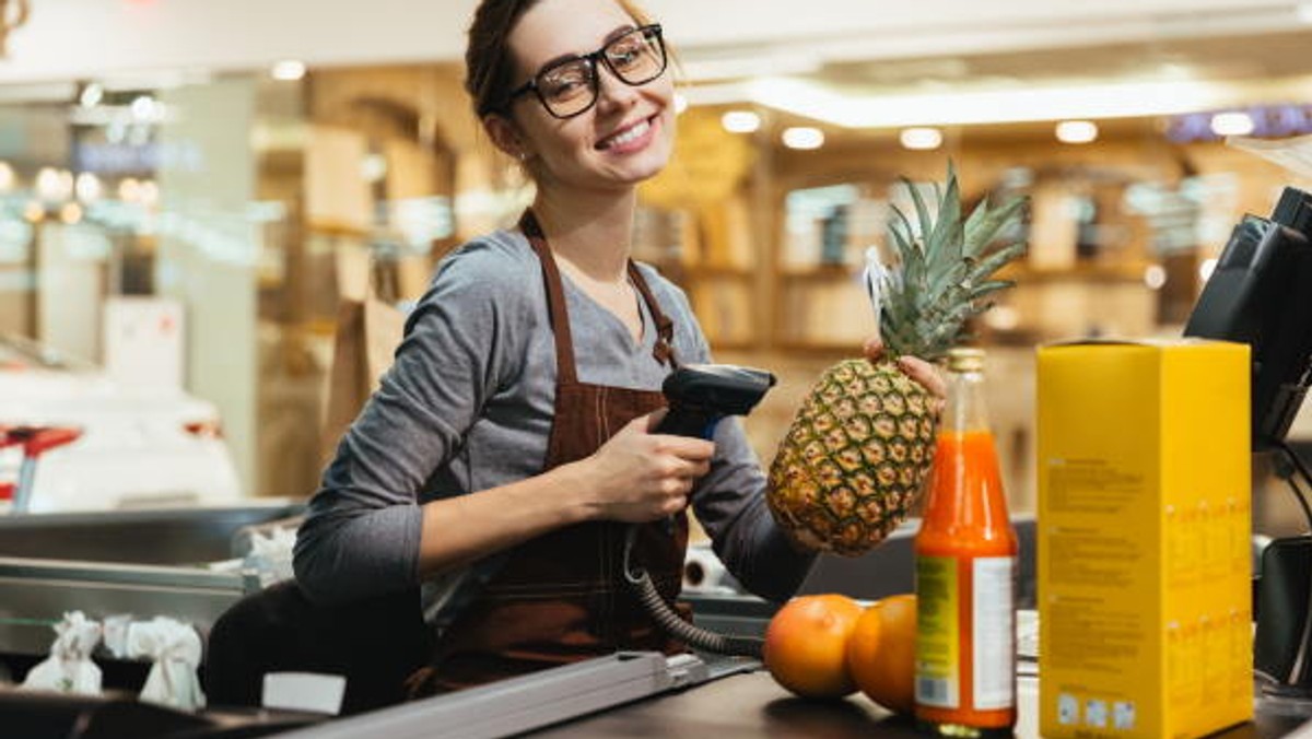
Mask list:
MULTIPOLYGON (((625 424, 666 402, 659 391, 579 381, 560 272, 531 211, 520 227, 542 261, 556 345, 555 420, 546 471, 590 455, 625 424)), ((653 356, 673 369, 673 323, 632 263, 628 277, 656 322, 653 356)), ((514 547, 441 635, 430 673, 436 686, 464 688, 615 650, 681 651, 682 644, 666 637, 628 591, 622 568, 627 526, 589 521, 514 547)), ((676 516, 673 528, 661 520, 642 525, 638 536, 635 563, 647 570, 668 602, 678 596, 686 545, 684 513, 676 516)))

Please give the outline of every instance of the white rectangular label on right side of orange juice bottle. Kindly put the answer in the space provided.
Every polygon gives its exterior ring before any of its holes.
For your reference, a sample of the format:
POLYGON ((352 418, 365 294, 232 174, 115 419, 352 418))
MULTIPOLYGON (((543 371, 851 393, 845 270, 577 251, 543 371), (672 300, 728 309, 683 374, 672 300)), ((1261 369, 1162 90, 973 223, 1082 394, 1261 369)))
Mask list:
POLYGON ((1015 559, 976 557, 971 560, 971 684, 976 709, 1015 705, 1015 609, 1012 588, 1015 559))

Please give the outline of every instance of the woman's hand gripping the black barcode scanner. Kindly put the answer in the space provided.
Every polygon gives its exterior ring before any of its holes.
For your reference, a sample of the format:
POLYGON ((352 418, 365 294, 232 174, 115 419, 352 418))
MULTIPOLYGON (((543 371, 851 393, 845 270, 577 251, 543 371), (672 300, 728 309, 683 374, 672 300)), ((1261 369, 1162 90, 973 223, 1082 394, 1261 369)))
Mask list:
POLYGON ((628 421, 590 457, 575 462, 590 518, 642 524, 678 513, 711 469, 715 444, 651 433, 652 416, 628 421))

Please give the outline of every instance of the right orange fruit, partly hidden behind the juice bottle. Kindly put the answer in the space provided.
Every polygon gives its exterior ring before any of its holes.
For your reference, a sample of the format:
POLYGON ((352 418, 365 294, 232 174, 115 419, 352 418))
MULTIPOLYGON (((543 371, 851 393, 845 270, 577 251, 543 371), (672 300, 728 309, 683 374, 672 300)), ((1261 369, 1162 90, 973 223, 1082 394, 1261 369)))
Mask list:
POLYGON ((848 639, 848 672, 871 701, 893 713, 916 707, 916 596, 878 600, 848 639))

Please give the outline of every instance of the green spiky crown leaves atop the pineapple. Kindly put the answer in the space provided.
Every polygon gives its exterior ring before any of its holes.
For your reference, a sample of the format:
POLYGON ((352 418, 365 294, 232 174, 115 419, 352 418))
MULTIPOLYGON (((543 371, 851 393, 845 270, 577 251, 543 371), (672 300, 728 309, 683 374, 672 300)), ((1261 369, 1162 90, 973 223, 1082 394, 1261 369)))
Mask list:
POLYGON ((1027 198, 1015 197, 992 207, 984 197, 963 221, 956 171, 950 161, 946 186, 934 184, 937 215, 909 180, 903 182, 920 227, 892 206, 890 232, 900 264, 876 274, 879 328, 893 353, 937 360, 963 339, 967 320, 992 307, 984 298, 1013 285, 989 277, 1023 255, 1025 243, 994 240, 1019 217, 1027 198))

